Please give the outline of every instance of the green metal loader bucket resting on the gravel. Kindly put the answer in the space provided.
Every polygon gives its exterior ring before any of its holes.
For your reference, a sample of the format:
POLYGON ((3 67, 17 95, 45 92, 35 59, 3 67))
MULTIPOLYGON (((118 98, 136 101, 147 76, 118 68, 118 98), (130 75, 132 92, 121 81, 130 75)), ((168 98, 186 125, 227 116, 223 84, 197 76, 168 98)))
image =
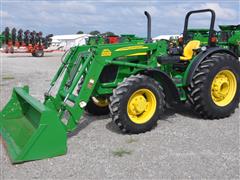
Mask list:
POLYGON ((63 155, 67 134, 54 109, 28 93, 28 87, 14 88, 0 112, 0 133, 12 163, 63 155))

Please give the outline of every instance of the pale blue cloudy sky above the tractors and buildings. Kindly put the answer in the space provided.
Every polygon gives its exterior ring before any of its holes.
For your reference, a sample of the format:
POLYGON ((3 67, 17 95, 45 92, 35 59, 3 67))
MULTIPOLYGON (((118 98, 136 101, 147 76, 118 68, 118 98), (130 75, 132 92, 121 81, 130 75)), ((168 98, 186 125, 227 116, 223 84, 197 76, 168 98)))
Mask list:
MULTIPOLYGON (((1 31, 6 26, 44 34, 75 34, 79 30, 111 31, 146 36, 147 10, 152 16, 152 36, 181 34, 190 10, 211 8, 219 24, 240 24, 240 0, 0 0, 1 31)), ((194 15, 192 27, 209 25, 209 14, 194 15)))

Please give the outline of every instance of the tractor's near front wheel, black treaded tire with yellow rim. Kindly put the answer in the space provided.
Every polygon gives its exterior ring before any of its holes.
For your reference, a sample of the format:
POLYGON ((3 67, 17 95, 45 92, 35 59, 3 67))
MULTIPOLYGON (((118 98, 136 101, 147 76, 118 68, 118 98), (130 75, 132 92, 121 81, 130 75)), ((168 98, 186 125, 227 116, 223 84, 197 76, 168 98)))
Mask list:
POLYGON ((126 78, 110 97, 112 120, 126 133, 151 130, 164 112, 165 95, 160 84, 145 75, 126 78))

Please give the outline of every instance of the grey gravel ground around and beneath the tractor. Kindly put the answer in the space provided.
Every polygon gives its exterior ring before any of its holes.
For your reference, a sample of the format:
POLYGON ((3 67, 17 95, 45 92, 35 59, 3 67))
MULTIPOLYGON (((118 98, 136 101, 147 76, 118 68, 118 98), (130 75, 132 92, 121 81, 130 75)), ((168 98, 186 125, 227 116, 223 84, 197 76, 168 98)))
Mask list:
MULTIPOLYGON (((1 54, 0 109, 14 86, 28 84, 42 100, 60 56, 1 54)), ((0 179, 239 179, 239 112, 211 121, 180 107, 139 135, 121 134, 108 116, 86 114, 64 156, 12 165, 0 143, 0 179)))

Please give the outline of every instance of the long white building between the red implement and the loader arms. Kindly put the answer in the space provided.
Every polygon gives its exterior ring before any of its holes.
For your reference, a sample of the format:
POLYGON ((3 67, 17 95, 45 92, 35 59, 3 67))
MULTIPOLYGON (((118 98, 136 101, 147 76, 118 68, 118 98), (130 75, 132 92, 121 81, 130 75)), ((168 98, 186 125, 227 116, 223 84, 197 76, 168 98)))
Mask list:
POLYGON ((71 34, 71 35, 56 35, 51 37, 52 43, 49 50, 68 50, 71 47, 86 44, 86 39, 90 34, 71 34))

